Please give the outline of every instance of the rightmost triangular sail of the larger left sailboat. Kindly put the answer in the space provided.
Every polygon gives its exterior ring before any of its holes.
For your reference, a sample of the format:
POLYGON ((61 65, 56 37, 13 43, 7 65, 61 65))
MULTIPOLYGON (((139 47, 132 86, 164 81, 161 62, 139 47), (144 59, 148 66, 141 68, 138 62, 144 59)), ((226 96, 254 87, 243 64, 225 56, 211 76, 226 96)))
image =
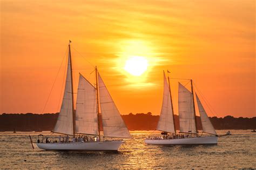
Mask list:
POLYGON ((99 74, 98 80, 104 137, 131 138, 131 134, 99 74))

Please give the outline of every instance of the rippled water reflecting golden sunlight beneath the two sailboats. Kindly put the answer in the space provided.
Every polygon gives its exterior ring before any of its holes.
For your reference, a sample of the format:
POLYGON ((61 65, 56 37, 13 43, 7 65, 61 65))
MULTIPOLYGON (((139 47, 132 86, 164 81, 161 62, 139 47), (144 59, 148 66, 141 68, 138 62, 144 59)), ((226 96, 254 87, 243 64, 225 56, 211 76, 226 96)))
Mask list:
MULTIPOLYGON (((217 131, 225 134, 225 131, 217 131)), ((57 152, 32 149, 29 134, 57 139, 50 132, 1 132, 0 168, 256 168, 256 133, 230 130, 218 145, 156 146, 145 145, 153 131, 131 131, 119 152, 57 152)))

